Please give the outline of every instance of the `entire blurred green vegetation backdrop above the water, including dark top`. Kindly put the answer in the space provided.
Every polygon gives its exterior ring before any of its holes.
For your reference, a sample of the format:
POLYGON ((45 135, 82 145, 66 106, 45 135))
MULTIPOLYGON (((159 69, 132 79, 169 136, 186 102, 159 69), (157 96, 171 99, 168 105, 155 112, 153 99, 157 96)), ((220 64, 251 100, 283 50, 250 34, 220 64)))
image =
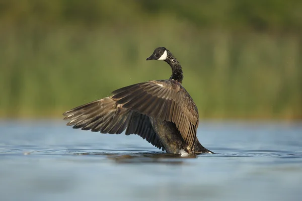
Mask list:
POLYGON ((62 118, 181 62, 201 118, 302 118, 302 1, 0 0, 0 117, 62 118))

